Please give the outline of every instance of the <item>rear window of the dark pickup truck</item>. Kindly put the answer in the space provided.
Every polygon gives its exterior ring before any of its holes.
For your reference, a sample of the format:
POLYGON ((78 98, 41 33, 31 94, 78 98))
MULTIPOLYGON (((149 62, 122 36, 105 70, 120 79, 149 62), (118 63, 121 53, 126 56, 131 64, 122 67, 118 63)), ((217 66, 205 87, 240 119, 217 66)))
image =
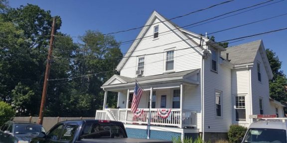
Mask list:
POLYGON ((127 138, 124 130, 113 124, 86 124, 80 139, 127 138))

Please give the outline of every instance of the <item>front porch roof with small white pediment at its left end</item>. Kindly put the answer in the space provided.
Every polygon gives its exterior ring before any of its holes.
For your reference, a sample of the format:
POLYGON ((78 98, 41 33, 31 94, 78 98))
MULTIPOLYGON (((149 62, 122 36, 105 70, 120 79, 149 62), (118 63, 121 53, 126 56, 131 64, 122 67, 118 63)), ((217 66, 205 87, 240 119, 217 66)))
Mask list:
POLYGON ((183 80, 186 83, 191 84, 199 84, 199 82, 195 79, 188 78, 191 75, 198 73, 200 69, 195 70, 188 70, 188 71, 180 71, 180 72, 173 72, 168 74, 158 74, 158 75, 150 75, 150 76, 143 76, 143 77, 126 77, 121 75, 114 75, 111 77, 107 82, 103 84, 101 88, 105 88, 109 85, 119 85, 119 84, 134 84, 136 81, 142 83, 154 83, 154 82, 162 82, 162 81, 172 81, 172 80, 183 80))

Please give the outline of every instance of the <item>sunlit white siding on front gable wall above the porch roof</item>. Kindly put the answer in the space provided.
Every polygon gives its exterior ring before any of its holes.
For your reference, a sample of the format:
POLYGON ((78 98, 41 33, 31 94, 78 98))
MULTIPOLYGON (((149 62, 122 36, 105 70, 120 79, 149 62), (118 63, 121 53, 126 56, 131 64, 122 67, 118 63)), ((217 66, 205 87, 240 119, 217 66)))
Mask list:
MULTIPOLYGON (((160 22, 158 19, 155 19, 153 23, 160 22)), ((159 29, 158 32, 168 31, 169 28, 166 27, 163 23, 158 23, 159 29)), ((167 32, 162 35, 159 35, 157 40, 153 38, 143 38, 133 54, 129 58, 127 63, 124 65, 121 70, 122 76, 127 77, 136 77, 137 69, 137 57, 146 55, 144 57, 144 76, 162 74, 164 72, 164 59, 165 54, 163 53, 166 49, 176 47, 177 51, 174 51, 174 66, 175 72, 187 71, 192 69, 199 69, 201 67, 201 56, 193 48, 179 50, 183 48, 191 47, 186 44, 186 41, 182 41, 176 34, 173 32, 167 32), (170 43, 170 44, 167 44, 170 43), (159 53, 148 55, 152 53, 159 53)), ((153 35, 153 26, 150 26, 148 31, 145 33, 144 37, 153 35)), ((195 45, 195 44, 194 44, 195 45)))

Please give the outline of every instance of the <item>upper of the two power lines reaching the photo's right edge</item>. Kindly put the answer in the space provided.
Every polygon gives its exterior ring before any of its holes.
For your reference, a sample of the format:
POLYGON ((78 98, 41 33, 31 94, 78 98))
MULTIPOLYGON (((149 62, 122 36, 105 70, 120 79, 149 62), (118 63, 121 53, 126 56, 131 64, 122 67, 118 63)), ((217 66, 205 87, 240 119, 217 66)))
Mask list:
MULTIPOLYGON (((230 29, 234 29, 234 28, 238 28, 238 27, 242 27, 242 26, 246 26, 246 25, 250 25, 250 24, 254 24, 254 23, 258 23, 258 22, 262 22, 262 21, 265 21, 265 20, 277 18, 277 17, 284 16, 284 15, 287 15, 287 13, 280 14, 280 15, 273 16, 273 17, 269 17, 269 18, 265 18, 265 19, 261 19, 261 20, 257 20, 257 21, 253 21, 253 22, 246 23, 246 24, 242 24, 242 25, 238 25, 238 26, 234 26, 234 27, 230 27, 230 28, 226 28, 226 29, 222 29, 222 30, 219 30, 219 31, 211 32, 211 33, 209 33, 208 35, 215 34, 215 33, 219 33, 219 32, 226 31, 226 30, 230 30, 230 29)), ((144 50, 148 50, 148 49, 152 49, 152 48, 156 48, 156 47, 166 46, 166 45, 170 45, 170 44, 174 44, 174 43, 186 41, 186 40, 189 40, 189 39, 195 39, 195 38, 199 38, 199 37, 201 37, 201 36, 196 36, 196 37, 193 37, 193 38, 188 38, 188 39, 184 39, 184 40, 174 41, 174 42, 171 42, 171 43, 166 43, 166 44, 163 44, 163 45, 158 45, 158 46, 149 47, 149 48, 145 48, 145 49, 141 49, 141 50, 136 50, 136 51, 134 51, 134 52, 139 52, 139 51, 144 51, 144 50)), ((128 53, 128 52, 127 52, 127 53, 128 53)), ((123 54, 127 54, 127 53, 123 53, 123 54)), ((54 58, 58 58, 58 59, 93 60, 93 59, 63 58, 63 57, 56 57, 56 56, 53 56, 53 57, 54 57, 54 58)), ((119 58, 106 58, 106 59, 121 59, 121 58, 122 58, 122 57, 119 57, 119 58)), ((123 58, 124 58, 124 57, 123 57, 123 58)), ((103 59, 103 60, 106 60, 106 59, 103 59)))

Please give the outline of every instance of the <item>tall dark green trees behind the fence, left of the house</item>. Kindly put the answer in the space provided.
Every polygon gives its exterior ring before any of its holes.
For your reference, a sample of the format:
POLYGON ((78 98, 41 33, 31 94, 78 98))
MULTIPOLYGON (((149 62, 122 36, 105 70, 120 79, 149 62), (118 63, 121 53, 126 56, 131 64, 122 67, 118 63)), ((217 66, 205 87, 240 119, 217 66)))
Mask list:
MULTIPOLYGON (((0 100, 13 105, 17 116, 37 116, 52 16, 32 4, 9 8, 6 0, 0 0, 0 10, 0 100)), ((122 57, 120 44, 111 35, 91 30, 74 43, 57 31, 61 18, 55 17, 49 79, 66 79, 49 80, 44 116, 94 117, 103 106, 100 86, 116 73, 122 57)), ((116 107, 117 94, 108 96, 109 105, 116 107)))

